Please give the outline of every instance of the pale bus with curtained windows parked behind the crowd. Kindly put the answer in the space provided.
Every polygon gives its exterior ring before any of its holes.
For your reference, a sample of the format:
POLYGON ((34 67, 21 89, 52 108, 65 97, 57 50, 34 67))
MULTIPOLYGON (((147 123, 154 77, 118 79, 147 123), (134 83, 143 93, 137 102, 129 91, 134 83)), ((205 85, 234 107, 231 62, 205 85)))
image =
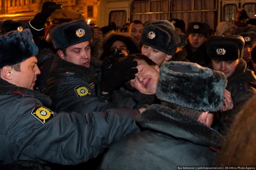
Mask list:
POLYGON ((178 18, 186 25, 203 21, 214 30, 220 21, 233 22, 238 8, 244 8, 249 18, 255 18, 255 0, 100 0, 97 26, 115 22, 120 28, 132 20, 145 23, 178 18))

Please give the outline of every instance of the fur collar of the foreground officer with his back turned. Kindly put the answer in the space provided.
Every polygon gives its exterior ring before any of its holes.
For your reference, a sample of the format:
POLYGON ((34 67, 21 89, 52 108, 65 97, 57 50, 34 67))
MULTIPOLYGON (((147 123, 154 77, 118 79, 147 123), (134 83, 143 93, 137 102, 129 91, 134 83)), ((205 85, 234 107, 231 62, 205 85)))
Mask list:
POLYGON ((220 133, 188 115, 158 104, 148 107, 136 121, 145 129, 216 149, 220 149, 225 140, 220 133))

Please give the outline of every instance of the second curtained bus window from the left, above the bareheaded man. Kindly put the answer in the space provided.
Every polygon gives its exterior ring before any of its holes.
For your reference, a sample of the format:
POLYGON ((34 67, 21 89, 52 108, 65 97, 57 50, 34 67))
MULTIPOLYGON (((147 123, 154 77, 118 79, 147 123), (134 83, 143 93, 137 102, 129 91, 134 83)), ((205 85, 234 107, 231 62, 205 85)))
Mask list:
POLYGON ((143 23, 152 20, 168 20, 168 0, 134 1, 131 4, 131 21, 143 23))

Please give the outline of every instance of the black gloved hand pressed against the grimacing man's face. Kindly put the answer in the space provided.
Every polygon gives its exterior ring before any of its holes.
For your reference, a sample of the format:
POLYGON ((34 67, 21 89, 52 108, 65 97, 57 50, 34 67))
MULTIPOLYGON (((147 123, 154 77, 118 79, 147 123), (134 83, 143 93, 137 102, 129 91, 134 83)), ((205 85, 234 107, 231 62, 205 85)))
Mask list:
POLYGON ((106 64, 102 64, 102 76, 100 80, 100 88, 104 92, 112 92, 116 87, 122 83, 135 78, 138 72, 137 61, 133 61, 134 57, 127 57, 118 64, 113 64, 110 68, 106 68, 106 64))

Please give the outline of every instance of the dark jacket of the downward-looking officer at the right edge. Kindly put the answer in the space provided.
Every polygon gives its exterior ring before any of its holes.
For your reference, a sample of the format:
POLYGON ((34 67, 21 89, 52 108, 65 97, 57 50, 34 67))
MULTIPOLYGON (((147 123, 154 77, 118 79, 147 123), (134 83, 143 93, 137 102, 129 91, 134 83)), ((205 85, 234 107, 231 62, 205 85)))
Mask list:
MULTIPOLYGON (((210 66, 212 68, 212 65, 210 66)), ((218 131, 226 137, 234 117, 245 102, 256 93, 256 76, 252 70, 246 69, 246 61, 240 59, 234 73, 229 76, 226 89, 231 93, 233 109, 220 113, 218 131)))

